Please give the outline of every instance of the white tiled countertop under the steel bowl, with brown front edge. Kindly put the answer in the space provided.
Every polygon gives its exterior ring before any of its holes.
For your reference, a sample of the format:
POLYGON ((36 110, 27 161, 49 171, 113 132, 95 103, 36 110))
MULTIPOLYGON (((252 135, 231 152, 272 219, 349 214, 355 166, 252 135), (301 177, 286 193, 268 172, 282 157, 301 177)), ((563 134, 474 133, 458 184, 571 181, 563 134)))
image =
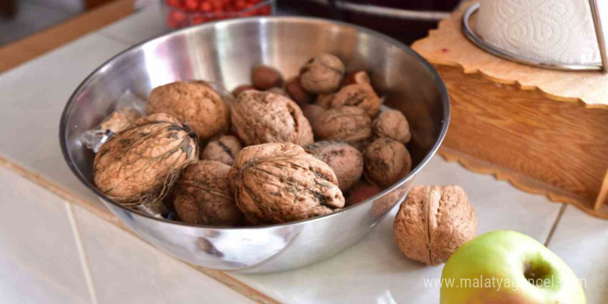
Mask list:
MULTIPOLYGON (((439 278, 442 267, 426 267, 397 249, 392 235, 397 209, 350 249, 278 274, 198 269, 121 229, 66 166, 59 117, 88 73, 164 31, 160 10, 149 8, 0 76, 0 207, 7 211, 0 221, 0 298, 8 303, 437 303, 439 288, 425 287, 424 279, 439 278)), ((478 234, 512 229, 541 243, 550 239, 549 249, 585 279, 588 303, 608 302, 607 220, 439 156, 415 183, 462 185, 477 211, 478 234)))

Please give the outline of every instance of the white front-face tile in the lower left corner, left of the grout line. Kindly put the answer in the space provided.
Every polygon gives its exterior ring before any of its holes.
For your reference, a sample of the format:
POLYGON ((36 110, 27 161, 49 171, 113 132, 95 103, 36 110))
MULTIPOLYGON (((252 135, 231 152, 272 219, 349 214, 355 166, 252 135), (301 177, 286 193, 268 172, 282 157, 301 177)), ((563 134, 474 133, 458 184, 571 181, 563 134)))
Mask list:
POLYGON ((0 167, 3 303, 90 303, 66 205, 0 167))

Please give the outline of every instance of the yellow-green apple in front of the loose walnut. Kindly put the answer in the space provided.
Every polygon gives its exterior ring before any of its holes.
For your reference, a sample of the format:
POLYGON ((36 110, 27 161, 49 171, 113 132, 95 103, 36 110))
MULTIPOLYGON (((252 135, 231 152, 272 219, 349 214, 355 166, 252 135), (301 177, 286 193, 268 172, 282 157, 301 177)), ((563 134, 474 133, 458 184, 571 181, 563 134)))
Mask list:
POLYGON ((441 304, 587 303, 576 275, 562 259, 535 239, 509 230, 482 234, 459 247, 446 262, 441 279, 441 304), (528 276, 553 277, 553 285, 533 285, 524 275, 526 269, 528 276), (471 286, 474 278, 481 286, 471 286), (493 287, 488 283, 492 278, 493 287), (449 279, 454 279, 452 287, 446 286, 449 279))

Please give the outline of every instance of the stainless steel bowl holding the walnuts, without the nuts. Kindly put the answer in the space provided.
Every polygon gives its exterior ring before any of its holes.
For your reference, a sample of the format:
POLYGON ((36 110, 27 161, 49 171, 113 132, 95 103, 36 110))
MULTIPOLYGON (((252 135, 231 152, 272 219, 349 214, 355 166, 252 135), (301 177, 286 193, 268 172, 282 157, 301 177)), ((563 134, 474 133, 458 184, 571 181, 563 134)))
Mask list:
POLYGON ((450 106, 433 67, 398 41, 345 23, 301 17, 261 17, 185 28, 134 46, 97 68, 78 86, 61 117, 66 162, 115 215, 159 249, 189 263, 238 272, 277 272, 332 256, 361 240, 403 200, 415 175, 435 154, 448 129, 450 106), (255 64, 286 76, 319 53, 333 53, 349 70, 368 70, 386 104, 406 113, 412 129, 411 173, 389 189, 342 211, 283 225, 231 228, 154 218, 113 202, 93 186, 94 155, 80 141, 125 91, 184 79, 234 88, 249 83, 255 64))

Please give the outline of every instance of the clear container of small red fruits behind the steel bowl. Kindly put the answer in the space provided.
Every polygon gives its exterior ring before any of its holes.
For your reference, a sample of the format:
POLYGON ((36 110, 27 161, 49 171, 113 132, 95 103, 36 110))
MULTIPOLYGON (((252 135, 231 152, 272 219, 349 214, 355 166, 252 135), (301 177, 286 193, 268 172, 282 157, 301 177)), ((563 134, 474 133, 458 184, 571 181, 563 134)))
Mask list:
POLYGON ((169 28, 240 17, 272 15, 276 0, 162 0, 169 28))

